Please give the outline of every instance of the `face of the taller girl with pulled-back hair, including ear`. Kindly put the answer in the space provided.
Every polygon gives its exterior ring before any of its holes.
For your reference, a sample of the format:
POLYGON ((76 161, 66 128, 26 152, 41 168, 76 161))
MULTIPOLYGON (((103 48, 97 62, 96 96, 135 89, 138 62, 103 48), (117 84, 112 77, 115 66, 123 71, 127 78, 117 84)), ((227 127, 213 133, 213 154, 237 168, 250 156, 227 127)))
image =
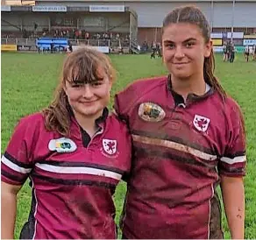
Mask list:
POLYGON ((204 58, 210 57, 212 43, 205 43, 195 24, 170 24, 162 36, 163 60, 175 79, 189 79, 203 74, 204 58))

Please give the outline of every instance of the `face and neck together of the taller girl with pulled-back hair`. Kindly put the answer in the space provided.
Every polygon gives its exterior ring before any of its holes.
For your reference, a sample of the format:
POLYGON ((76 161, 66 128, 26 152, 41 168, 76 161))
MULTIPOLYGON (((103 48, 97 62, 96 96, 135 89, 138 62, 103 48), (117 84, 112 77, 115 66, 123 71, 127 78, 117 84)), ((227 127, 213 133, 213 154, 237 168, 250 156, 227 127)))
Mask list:
POLYGON ((162 46, 174 90, 185 99, 189 92, 203 95, 203 62, 210 57, 211 41, 205 42, 197 25, 178 23, 164 28, 162 46))

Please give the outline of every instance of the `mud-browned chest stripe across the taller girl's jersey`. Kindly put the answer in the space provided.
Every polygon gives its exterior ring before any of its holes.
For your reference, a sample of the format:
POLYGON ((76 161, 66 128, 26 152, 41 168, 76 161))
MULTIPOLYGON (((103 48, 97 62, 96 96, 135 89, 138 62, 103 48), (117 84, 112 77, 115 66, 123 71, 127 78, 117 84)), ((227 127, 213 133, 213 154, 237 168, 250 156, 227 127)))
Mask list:
POLYGON ((167 148, 172 148, 181 152, 187 152, 189 154, 192 154, 198 158, 204 159, 204 160, 215 160, 217 159, 217 156, 215 155, 210 155, 209 153, 206 152, 201 152, 197 149, 194 149, 190 146, 187 145, 181 145, 172 141, 168 140, 163 140, 159 138, 147 138, 139 135, 132 135, 132 139, 134 141, 137 141, 139 143, 147 144, 147 145, 159 145, 159 146, 164 146, 167 148))

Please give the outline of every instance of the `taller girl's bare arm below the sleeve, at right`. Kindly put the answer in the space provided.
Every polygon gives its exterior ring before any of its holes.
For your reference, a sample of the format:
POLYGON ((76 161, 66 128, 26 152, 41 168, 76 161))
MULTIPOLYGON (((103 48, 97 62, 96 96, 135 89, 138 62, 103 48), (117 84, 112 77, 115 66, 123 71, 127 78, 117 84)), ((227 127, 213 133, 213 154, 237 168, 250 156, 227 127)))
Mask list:
POLYGON ((245 188, 243 178, 221 176, 224 209, 232 239, 244 239, 245 188))

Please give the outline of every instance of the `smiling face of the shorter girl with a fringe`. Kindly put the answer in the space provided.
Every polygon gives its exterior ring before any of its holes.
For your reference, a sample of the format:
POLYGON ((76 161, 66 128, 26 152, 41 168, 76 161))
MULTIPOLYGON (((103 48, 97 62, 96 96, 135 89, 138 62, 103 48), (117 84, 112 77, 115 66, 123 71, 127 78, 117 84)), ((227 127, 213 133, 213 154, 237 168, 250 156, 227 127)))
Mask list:
POLYGON ((64 90, 75 116, 98 117, 110 102, 110 77, 99 68, 98 80, 89 83, 66 81, 64 90))

